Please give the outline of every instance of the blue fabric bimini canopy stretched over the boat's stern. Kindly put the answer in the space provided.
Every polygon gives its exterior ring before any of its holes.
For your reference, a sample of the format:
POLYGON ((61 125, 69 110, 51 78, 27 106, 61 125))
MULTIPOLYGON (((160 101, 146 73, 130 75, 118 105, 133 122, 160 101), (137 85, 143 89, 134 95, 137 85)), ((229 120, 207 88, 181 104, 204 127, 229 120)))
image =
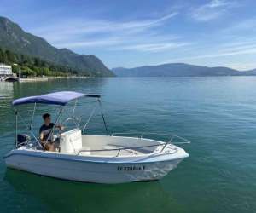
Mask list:
POLYGON ((73 101, 80 97, 93 97, 100 98, 101 95, 97 94, 84 94, 73 91, 63 91, 63 92, 54 92, 45 95, 29 96, 24 98, 19 98, 12 101, 13 106, 18 106, 21 104, 30 104, 30 103, 41 103, 41 104, 54 104, 54 105, 66 105, 69 101, 73 101))

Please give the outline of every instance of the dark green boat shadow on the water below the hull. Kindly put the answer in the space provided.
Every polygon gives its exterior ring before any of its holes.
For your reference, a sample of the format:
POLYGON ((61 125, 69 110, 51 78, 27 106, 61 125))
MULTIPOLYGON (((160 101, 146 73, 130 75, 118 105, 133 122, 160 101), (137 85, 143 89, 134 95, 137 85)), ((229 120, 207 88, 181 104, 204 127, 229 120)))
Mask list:
POLYGON ((48 212, 183 212, 160 181, 117 185, 62 181, 7 169, 4 179, 48 212))

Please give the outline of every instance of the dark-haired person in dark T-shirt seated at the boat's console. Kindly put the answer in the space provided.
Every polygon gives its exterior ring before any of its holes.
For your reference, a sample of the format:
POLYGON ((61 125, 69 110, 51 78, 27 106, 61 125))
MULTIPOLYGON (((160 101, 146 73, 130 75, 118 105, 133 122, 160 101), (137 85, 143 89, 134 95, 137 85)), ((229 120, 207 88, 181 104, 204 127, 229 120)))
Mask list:
POLYGON ((48 151, 55 151, 55 141, 51 141, 51 137, 49 135, 51 134, 53 128, 59 128, 62 129, 61 125, 51 123, 50 114, 45 113, 43 115, 44 124, 40 127, 39 135, 40 135, 40 142, 45 150, 48 151))

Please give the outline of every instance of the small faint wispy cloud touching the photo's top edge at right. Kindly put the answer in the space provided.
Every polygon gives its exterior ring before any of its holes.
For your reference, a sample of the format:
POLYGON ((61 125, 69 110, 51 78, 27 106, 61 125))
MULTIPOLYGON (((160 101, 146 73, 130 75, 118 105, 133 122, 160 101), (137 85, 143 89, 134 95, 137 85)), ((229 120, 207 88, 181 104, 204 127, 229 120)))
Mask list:
POLYGON ((234 1, 212 0, 198 8, 191 9, 191 17, 197 21, 209 21, 218 19, 224 15, 228 9, 238 6, 234 1))

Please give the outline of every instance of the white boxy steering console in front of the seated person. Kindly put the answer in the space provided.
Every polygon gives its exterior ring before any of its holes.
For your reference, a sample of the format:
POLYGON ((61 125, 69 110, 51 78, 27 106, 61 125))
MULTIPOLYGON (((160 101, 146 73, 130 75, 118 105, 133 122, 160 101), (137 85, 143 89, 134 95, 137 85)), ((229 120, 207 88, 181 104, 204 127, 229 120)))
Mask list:
POLYGON ((61 153, 78 153, 82 149, 82 133, 79 129, 69 130, 61 134, 61 153))

